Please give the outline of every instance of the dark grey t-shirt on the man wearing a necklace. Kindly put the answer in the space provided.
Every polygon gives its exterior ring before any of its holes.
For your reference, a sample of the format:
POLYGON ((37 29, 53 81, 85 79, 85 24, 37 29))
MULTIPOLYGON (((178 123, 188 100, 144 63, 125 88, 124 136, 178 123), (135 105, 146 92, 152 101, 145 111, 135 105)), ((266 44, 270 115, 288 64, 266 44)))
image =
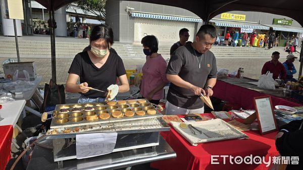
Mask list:
MULTIPOLYGON (((188 44, 175 51, 169 60, 166 73, 179 75, 194 86, 204 88, 208 78, 217 78, 216 57, 211 51, 205 54, 197 51, 194 53, 193 47, 188 44)), ((191 90, 178 87, 173 83, 169 87, 167 100, 185 109, 198 109, 204 106, 204 103, 191 90)))

